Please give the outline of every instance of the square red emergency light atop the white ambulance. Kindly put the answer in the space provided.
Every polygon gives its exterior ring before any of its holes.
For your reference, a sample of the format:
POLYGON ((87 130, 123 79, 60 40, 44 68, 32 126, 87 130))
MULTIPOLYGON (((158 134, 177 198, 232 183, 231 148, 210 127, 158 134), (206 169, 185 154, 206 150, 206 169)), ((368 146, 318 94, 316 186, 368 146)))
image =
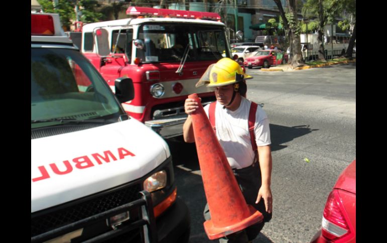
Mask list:
POLYGON ((31 15, 31 36, 53 36, 54 20, 50 15, 31 15))

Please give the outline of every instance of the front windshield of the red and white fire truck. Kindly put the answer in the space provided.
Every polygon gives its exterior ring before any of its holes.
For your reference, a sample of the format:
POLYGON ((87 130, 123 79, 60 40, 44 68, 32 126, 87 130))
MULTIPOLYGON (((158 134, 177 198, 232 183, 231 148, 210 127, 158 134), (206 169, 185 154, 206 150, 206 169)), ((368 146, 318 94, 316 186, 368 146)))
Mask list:
POLYGON ((217 61, 227 50, 224 28, 221 26, 147 23, 139 28, 138 39, 144 42, 136 50, 143 63, 180 62, 189 48, 186 62, 217 61))

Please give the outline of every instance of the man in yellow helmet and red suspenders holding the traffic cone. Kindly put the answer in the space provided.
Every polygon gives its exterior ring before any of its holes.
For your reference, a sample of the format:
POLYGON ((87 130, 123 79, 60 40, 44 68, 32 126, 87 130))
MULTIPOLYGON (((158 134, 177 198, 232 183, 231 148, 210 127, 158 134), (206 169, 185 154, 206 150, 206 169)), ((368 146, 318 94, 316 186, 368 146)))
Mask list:
MULTIPOLYGON (((254 206, 264 216, 263 222, 220 238, 220 242, 250 242, 258 235, 264 223, 271 219, 272 214, 269 121, 263 109, 255 104, 255 114, 250 116, 253 117, 254 126, 249 131, 250 106, 253 102, 244 96, 247 91, 245 80, 251 78, 236 61, 223 58, 210 65, 196 85, 214 88, 217 101, 205 106, 204 110, 210 121, 215 119, 213 126, 216 136, 247 204, 254 206)), ((190 114, 198 107, 195 100, 185 100, 184 109, 188 117, 183 125, 183 137, 188 143, 195 142, 190 114)), ((205 206, 204 217, 206 220, 211 218, 208 204, 205 206)))

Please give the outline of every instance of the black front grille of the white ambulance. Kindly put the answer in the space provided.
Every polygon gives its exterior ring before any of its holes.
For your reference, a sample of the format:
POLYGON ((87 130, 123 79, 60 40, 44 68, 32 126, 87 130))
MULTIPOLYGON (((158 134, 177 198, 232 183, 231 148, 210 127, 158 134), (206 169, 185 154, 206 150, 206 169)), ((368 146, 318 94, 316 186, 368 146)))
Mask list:
POLYGON ((76 222, 138 199, 140 183, 128 185, 103 195, 93 195, 86 199, 70 202, 31 215, 31 236, 76 222))

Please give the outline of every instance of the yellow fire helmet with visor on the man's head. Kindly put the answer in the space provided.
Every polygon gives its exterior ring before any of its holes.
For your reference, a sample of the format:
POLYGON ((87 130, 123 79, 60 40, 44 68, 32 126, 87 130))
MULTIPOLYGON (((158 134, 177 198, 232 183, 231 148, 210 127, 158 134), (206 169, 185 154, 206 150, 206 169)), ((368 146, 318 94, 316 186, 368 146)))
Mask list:
POLYGON ((195 85, 200 87, 218 87, 242 82, 244 79, 252 79, 250 75, 243 72, 241 66, 230 58, 222 58, 215 64, 211 64, 206 72, 195 85))

